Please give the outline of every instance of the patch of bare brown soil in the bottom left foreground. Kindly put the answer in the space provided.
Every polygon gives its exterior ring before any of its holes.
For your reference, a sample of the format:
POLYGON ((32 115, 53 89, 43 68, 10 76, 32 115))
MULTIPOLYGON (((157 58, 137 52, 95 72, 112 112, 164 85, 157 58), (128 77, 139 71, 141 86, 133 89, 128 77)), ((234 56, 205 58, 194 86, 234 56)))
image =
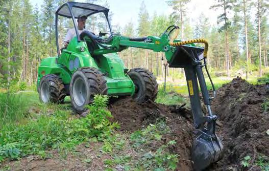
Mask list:
MULTIPOLYGON (((99 149, 102 143, 91 143, 89 147, 81 144, 73 154, 59 154, 56 150, 47 152, 50 158, 41 159, 39 156, 27 156, 19 161, 10 161, 3 164, 8 165, 12 171, 54 171, 54 170, 105 170, 104 161, 112 159, 108 154, 102 154, 99 149), (87 160, 86 160, 87 159, 87 160), (88 162, 88 163, 87 163, 88 162)), ((1 169, 0 169, 1 170, 1 169)), ((5 169, 3 169, 5 170, 5 169)))

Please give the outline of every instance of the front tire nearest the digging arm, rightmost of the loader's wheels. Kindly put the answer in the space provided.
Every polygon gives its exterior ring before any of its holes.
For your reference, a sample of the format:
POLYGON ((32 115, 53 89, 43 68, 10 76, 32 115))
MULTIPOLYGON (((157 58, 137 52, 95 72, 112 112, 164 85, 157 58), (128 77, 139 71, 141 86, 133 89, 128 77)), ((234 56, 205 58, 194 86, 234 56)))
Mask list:
POLYGON ((138 102, 147 100, 154 101, 158 94, 156 77, 149 70, 134 68, 128 72, 129 77, 135 84, 135 94, 132 96, 138 102))

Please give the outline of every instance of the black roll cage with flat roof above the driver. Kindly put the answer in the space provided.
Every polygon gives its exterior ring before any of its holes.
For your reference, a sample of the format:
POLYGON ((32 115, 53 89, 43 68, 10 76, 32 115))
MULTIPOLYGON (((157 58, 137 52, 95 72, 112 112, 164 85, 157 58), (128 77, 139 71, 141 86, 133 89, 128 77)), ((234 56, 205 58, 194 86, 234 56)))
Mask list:
POLYGON ((109 12, 108 8, 105 8, 99 5, 94 5, 94 4, 67 2, 61 5, 57 9, 57 11, 55 12, 55 34, 56 34, 56 46, 57 46, 58 57, 60 56, 60 49, 59 49, 59 42, 58 42, 58 15, 67 17, 67 18, 72 18, 78 41, 82 41, 79 36, 78 26, 76 24, 76 18, 78 18, 78 16, 81 14, 86 15, 88 17, 92 14, 99 13, 99 12, 103 12, 105 14, 110 33, 112 33, 111 25, 108 19, 108 12, 109 12))

